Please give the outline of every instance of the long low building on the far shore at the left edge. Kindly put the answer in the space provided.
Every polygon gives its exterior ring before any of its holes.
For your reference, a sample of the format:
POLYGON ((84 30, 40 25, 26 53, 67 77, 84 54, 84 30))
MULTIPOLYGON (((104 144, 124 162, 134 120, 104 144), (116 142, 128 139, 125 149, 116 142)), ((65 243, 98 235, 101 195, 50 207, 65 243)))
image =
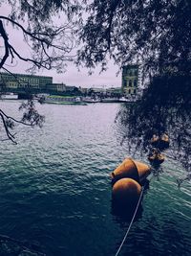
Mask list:
POLYGON ((48 84, 53 84, 53 77, 33 76, 25 74, 0 73, 0 84, 8 89, 44 90, 48 84))

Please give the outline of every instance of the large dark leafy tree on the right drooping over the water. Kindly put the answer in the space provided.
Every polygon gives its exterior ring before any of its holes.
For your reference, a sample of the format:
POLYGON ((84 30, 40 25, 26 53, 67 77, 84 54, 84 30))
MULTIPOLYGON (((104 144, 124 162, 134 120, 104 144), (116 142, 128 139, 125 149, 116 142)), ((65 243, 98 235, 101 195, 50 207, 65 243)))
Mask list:
POLYGON ((109 58, 140 63, 148 88, 118 118, 129 147, 148 150, 153 134, 168 132, 171 146, 190 170, 191 1, 93 1, 81 31, 78 62, 89 68, 109 58))

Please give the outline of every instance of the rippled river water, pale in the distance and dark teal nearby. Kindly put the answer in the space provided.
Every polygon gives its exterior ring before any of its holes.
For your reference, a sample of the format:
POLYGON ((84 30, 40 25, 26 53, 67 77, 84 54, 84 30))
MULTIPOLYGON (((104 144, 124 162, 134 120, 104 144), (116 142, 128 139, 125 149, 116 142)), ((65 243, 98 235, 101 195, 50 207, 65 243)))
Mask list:
MULTIPOLYGON (((18 102, 1 102, 18 116, 18 102)), ((115 123, 120 104, 37 105, 43 128, 16 127, 0 145, 0 234, 37 244, 48 256, 112 256, 128 221, 111 206, 109 173, 126 157, 115 123)), ((146 162, 146 156, 135 157, 146 162)), ((191 255, 191 184, 170 157, 142 200, 119 255, 191 255)))

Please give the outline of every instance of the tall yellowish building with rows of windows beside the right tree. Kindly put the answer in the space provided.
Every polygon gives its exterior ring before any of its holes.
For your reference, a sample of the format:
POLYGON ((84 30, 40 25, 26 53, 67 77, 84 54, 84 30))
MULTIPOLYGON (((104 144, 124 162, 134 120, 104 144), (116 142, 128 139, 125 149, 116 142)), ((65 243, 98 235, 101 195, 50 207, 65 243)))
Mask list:
POLYGON ((138 93, 139 72, 138 65, 126 65, 122 68, 122 86, 123 95, 132 96, 138 93))

